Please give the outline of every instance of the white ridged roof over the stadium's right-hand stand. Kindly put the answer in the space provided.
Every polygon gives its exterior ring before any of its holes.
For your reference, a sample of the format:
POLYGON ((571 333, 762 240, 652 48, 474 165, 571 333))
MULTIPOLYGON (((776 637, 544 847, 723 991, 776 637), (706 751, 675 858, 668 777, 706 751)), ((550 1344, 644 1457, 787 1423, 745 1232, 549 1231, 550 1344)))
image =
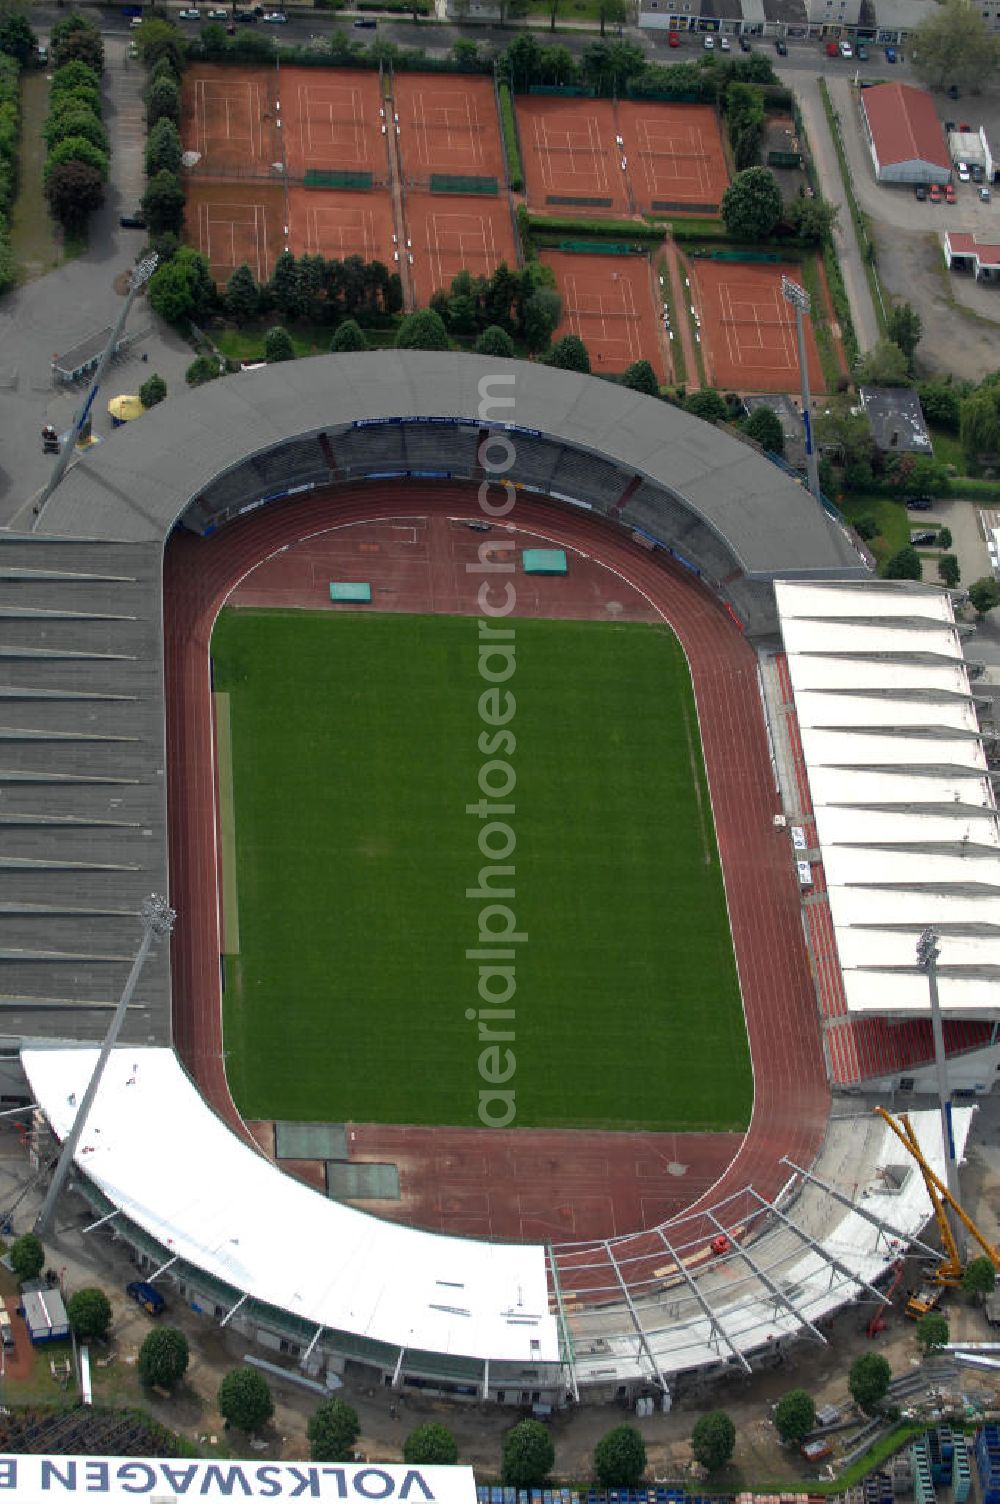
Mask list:
POLYGON ((777 581, 777 609, 851 1012, 1000 1015, 1000 829, 950 597, 777 581))

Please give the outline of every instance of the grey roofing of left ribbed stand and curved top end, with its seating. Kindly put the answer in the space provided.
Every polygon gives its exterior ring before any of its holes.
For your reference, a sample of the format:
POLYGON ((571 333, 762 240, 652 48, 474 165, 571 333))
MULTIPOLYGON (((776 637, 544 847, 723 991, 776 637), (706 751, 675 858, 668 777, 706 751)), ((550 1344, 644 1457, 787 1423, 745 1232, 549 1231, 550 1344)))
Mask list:
MULTIPOLYGON (((592 378, 386 350, 171 397, 83 456, 32 532, 0 531, 0 1035, 101 1038, 138 907, 168 890, 161 570, 177 517, 208 531, 373 472, 468 480, 501 424, 522 433, 511 480, 659 528, 728 591, 750 576, 746 599, 770 615, 774 576, 865 573, 847 532, 752 448, 592 378)), ((170 1036, 159 946, 123 1038, 170 1036)))

